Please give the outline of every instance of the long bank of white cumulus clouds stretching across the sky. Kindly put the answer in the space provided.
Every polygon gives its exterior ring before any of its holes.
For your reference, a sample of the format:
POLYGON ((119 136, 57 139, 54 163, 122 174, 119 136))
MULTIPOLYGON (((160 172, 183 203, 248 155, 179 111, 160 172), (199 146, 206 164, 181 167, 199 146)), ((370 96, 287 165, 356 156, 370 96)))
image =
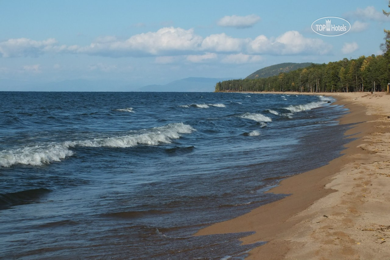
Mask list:
MULTIPOLYGON (((363 25, 361 25, 362 27, 363 25)), ((297 31, 288 31, 274 38, 265 35, 255 39, 235 38, 225 33, 206 37, 194 33, 193 29, 164 27, 156 32, 136 34, 128 39, 115 36, 97 37, 90 45, 59 45, 55 39, 34 41, 20 38, 0 42, 2 57, 37 56, 45 52, 82 53, 107 57, 165 57, 156 63, 170 63, 177 56, 188 57, 188 61, 201 62, 211 59, 215 53, 225 54, 271 54, 295 55, 328 53, 331 45, 318 38, 304 37, 297 31), (206 54, 204 54, 206 52, 206 54), (210 54, 214 53, 214 54, 210 54)))

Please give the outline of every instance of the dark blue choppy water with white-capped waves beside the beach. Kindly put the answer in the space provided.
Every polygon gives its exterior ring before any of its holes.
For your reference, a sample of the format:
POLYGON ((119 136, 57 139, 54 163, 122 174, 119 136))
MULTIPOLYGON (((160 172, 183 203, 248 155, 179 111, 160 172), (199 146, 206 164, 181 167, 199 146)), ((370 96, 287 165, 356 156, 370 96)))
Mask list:
POLYGON ((328 100, 0 92, 0 258, 242 259, 245 234, 191 235, 339 156, 328 100))

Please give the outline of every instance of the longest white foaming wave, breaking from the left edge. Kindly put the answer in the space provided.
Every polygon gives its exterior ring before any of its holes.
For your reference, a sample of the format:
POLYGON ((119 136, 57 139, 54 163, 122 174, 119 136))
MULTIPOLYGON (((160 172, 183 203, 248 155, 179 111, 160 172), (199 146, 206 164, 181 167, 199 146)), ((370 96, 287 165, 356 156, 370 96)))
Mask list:
POLYGON ((190 125, 172 123, 140 131, 133 134, 96 138, 84 141, 66 141, 39 146, 30 146, 23 149, 0 151, 0 166, 10 167, 14 164, 41 166, 50 162, 59 162, 61 159, 72 156, 74 147, 134 147, 137 145, 170 144, 172 139, 178 139, 181 134, 191 134, 195 131, 190 125))

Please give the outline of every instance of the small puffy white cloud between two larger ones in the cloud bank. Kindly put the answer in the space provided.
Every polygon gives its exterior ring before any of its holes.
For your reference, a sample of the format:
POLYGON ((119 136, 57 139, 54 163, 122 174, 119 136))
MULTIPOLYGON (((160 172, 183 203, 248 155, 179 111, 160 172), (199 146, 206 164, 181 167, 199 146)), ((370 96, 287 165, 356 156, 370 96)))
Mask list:
POLYGON ((211 34, 202 41, 202 49, 215 52, 239 52, 245 41, 245 39, 233 38, 224 33, 211 34))

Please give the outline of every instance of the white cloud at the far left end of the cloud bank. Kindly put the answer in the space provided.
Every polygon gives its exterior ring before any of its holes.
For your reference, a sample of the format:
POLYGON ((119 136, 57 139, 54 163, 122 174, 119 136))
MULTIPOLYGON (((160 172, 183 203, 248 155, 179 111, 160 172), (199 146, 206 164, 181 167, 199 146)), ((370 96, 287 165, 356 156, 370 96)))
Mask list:
POLYGON ((53 46, 57 41, 53 38, 44 41, 34 41, 27 38, 9 39, 0 43, 2 57, 37 57, 42 54, 46 47, 53 46))

